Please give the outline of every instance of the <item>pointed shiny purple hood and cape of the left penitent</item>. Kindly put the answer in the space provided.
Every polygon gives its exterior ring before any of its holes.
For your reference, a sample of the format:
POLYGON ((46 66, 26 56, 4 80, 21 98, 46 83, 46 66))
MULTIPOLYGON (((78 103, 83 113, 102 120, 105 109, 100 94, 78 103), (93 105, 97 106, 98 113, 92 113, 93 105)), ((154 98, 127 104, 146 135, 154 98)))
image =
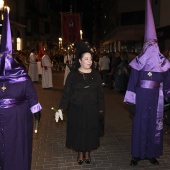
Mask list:
POLYGON ((2 82, 22 82, 29 79, 24 68, 22 68, 12 56, 12 38, 9 21, 9 8, 4 11, 4 21, 2 26, 2 39, 0 51, 0 81, 2 82))

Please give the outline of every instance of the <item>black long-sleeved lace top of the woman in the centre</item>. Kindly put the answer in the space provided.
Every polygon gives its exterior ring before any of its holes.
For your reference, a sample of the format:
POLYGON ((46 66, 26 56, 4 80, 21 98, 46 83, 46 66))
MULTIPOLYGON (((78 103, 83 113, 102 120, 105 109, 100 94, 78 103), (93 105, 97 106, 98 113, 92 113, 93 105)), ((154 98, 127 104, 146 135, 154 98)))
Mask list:
POLYGON ((67 76, 59 108, 67 109, 69 103, 81 105, 85 95, 89 97, 89 104, 97 104, 99 111, 104 110, 104 95, 99 73, 96 70, 92 70, 91 73, 71 71, 67 76))

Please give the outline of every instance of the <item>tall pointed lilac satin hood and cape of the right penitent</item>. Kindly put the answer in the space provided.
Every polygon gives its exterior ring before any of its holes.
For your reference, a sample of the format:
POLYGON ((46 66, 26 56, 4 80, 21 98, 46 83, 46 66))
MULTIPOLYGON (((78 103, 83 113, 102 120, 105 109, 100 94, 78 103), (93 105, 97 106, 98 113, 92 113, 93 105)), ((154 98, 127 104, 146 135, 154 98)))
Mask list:
POLYGON ((132 60, 130 66, 136 70, 165 72, 170 63, 160 53, 150 0, 146 0, 145 38, 141 54, 132 60))

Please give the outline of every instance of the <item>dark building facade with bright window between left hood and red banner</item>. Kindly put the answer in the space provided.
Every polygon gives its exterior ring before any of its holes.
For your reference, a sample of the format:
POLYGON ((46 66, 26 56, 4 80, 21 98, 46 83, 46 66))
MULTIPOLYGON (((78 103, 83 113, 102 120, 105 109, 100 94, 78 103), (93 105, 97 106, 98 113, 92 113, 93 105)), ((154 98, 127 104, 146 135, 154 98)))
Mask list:
POLYGON ((13 49, 58 47, 61 37, 62 0, 5 0, 10 7, 13 49))

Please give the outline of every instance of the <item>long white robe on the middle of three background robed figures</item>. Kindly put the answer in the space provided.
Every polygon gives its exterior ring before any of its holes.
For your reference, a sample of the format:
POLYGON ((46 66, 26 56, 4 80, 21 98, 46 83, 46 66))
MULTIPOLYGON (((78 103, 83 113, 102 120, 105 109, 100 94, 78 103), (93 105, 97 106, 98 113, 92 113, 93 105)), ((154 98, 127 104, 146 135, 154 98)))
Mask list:
POLYGON ((48 55, 42 57, 42 88, 53 87, 52 83, 52 71, 51 71, 51 60, 48 55), (47 66, 47 70, 45 69, 47 66))

